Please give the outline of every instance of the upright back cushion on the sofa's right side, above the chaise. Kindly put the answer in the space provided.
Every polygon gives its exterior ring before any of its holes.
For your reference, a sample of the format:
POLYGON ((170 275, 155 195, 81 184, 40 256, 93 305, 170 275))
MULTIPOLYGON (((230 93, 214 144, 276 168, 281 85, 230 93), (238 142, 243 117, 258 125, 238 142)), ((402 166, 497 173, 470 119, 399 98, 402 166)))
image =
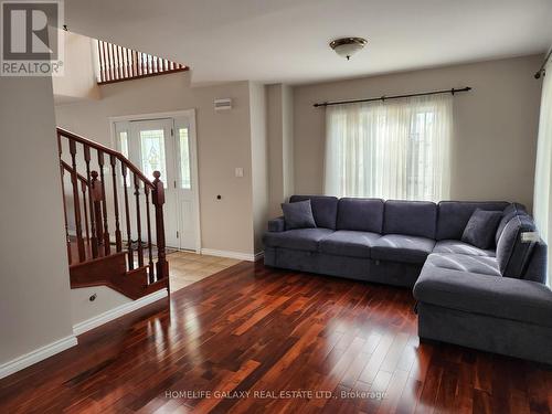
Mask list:
POLYGON ((523 277, 535 243, 522 242, 521 234, 534 231, 534 223, 529 215, 514 215, 506 224, 497 244, 498 268, 502 276, 523 277))

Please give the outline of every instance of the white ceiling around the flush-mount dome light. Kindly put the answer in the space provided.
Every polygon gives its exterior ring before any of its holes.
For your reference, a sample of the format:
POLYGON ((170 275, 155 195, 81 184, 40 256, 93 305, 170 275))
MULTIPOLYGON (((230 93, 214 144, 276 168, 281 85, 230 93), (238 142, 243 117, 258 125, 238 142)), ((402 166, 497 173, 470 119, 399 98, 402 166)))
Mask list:
POLYGON ((301 84, 543 53, 552 0, 65 0, 73 32, 184 63, 193 83, 301 84), (351 61, 328 43, 362 36, 351 61))

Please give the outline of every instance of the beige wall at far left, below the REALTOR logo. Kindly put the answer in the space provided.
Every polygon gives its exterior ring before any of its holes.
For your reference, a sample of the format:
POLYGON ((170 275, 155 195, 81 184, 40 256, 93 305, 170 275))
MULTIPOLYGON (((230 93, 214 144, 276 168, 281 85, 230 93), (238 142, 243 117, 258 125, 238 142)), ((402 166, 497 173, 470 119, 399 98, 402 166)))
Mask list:
POLYGON ((0 77, 0 365, 73 335, 52 81, 0 77))

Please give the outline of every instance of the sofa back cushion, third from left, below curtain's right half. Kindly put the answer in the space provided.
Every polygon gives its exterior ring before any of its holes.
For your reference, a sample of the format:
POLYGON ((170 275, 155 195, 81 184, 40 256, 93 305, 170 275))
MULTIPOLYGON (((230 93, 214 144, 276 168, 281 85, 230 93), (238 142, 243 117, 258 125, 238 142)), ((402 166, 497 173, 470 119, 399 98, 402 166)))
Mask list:
POLYGON ((384 234, 406 234, 435 238, 436 223, 437 205, 435 203, 429 201, 385 201, 384 234))

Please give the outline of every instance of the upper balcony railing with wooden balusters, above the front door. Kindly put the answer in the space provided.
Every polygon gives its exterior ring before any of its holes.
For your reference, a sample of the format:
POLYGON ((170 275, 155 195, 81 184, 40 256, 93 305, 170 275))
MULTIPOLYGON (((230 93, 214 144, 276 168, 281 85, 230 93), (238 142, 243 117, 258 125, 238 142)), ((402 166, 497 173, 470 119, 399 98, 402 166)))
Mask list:
POLYGON ((188 71, 180 63, 137 52, 113 43, 97 41, 99 61, 98 84, 188 71))

